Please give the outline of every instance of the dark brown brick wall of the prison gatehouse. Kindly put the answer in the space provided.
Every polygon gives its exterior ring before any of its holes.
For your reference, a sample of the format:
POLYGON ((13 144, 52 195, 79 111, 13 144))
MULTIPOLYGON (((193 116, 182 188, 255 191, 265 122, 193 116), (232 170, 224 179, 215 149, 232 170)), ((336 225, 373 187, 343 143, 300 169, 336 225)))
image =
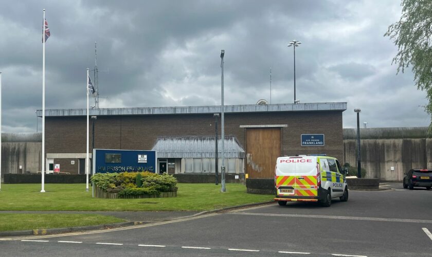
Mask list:
MULTIPOLYGON (((92 152, 92 121, 89 145, 92 152)), ((46 117, 46 153, 85 153, 85 117, 46 117)), ((221 120, 218 122, 221 135, 221 120)), ((225 114, 225 135, 236 136, 245 148, 240 125, 287 124, 281 128, 282 155, 325 153, 343 159, 341 112, 274 112, 225 114), (301 134, 325 134, 325 146, 300 146, 301 134)), ((213 114, 98 116, 95 148, 151 150, 159 136, 213 136, 213 114)), ((78 172, 78 161, 65 169, 78 172)), ((63 171, 63 167, 61 170, 63 171)), ((67 171, 67 170, 65 170, 67 171)), ((70 171, 67 171, 70 172, 70 171)))

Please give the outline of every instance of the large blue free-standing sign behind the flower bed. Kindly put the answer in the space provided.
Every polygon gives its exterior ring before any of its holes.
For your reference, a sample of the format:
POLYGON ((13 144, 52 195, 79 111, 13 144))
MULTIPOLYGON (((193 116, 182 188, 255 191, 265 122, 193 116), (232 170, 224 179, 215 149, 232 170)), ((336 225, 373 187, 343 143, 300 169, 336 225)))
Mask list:
POLYGON ((156 172, 156 151, 93 150, 93 173, 156 172))

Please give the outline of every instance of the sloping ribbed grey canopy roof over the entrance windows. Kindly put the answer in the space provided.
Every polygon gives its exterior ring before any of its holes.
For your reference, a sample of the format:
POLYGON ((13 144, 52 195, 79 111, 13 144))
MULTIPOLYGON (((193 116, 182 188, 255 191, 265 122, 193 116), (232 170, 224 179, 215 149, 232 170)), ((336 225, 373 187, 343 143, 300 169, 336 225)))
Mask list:
MULTIPOLYGON (((225 158, 244 158, 236 137, 225 137, 225 158)), ((222 139, 218 140, 218 157, 222 157, 222 139)), ((158 158, 214 158, 214 137, 159 137, 153 146, 158 158)))

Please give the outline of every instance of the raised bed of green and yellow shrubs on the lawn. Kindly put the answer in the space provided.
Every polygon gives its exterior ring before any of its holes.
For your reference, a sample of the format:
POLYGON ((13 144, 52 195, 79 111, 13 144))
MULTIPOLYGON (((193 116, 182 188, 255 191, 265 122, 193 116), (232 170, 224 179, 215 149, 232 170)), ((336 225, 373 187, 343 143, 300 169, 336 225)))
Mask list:
POLYGON ((157 198, 177 196, 177 180, 150 172, 98 173, 92 176, 99 198, 157 198))

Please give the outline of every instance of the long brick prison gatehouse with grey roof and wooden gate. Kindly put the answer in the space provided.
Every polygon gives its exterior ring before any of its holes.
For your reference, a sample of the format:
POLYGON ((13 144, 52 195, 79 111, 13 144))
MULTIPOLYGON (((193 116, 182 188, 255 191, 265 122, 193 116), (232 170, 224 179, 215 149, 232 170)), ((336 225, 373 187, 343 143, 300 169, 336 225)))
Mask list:
MULTIPOLYGON (((343 159, 346 109, 345 102, 225 106, 226 172, 271 178, 279 156, 327 154, 343 159), (314 135, 319 143, 304 142, 314 135)), ((89 121, 89 153, 94 124, 96 149, 155 150, 158 172, 214 173, 213 114, 220 113, 221 106, 91 109, 89 115, 97 119, 89 121)), ((221 148, 221 117, 218 134, 221 148)), ((221 167, 221 149, 218 152, 221 167)), ((62 172, 85 172, 86 109, 45 111, 45 153, 48 170, 60 164, 62 172)))

